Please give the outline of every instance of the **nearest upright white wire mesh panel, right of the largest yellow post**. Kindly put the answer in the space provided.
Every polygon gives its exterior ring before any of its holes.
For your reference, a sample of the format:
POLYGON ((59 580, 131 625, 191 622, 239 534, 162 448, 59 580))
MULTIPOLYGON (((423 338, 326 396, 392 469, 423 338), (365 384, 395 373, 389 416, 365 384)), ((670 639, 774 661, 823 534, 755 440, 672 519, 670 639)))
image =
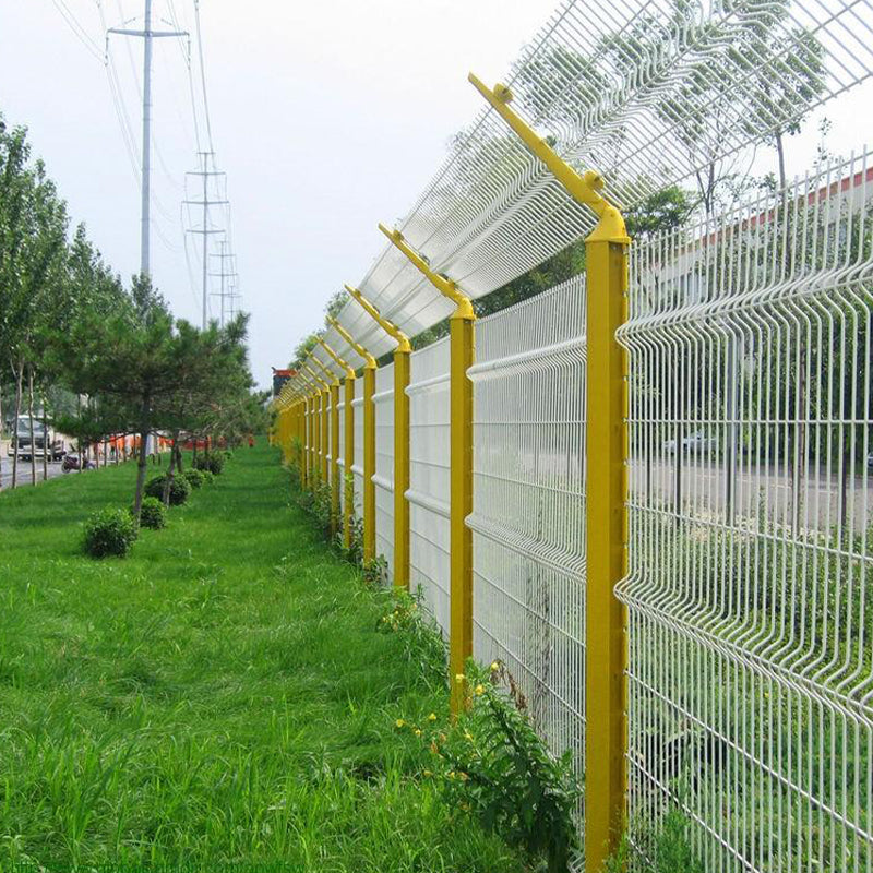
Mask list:
POLYGON ((873 871, 873 170, 633 250, 631 834, 873 871))

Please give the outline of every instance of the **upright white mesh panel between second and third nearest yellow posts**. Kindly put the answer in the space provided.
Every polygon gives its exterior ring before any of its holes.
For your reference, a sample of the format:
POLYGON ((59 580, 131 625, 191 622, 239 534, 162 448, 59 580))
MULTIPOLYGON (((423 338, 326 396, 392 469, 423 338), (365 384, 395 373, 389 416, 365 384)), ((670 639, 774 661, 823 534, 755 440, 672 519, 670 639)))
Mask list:
POLYGON ((449 633, 449 339, 411 355, 409 587, 449 633))

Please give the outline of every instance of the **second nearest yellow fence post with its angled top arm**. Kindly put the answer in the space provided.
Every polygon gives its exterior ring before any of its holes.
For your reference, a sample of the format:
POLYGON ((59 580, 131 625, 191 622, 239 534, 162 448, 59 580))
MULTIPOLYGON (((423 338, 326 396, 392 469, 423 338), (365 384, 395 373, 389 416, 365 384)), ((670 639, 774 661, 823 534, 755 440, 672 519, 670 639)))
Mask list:
POLYGON ((470 299, 458 286, 432 271, 428 262, 406 241, 399 230, 379 229, 397 247, 444 297, 455 304, 450 327, 450 454, 451 499, 449 675, 451 709, 457 715, 467 702, 463 677, 467 658, 473 656, 473 531, 467 516, 473 512, 473 382, 467 370, 475 358, 475 322, 470 299))

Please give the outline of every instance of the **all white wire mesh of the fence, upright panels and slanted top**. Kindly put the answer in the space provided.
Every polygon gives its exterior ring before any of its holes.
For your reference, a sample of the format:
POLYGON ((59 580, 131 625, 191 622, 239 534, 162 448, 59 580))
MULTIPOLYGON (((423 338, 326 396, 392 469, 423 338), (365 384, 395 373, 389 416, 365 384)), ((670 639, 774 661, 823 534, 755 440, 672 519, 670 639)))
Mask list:
MULTIPOLYGON (((785 136, 872 68, 869 0, 571 0, 505 80, 523 121, 569 166, 596 168, 612 203, 645 214, 677 182, 701 203, 668 229, 637 224, 617 334, 629 567, 614 595, 626 609, 634 870, 651 869, 679 810, 707 873, 873 873, 873 160, 834 159, 739 205, 719 188, 750 143, 776 146, 784 175, 785 136)), ((594 223, 488 109, 398 229, 476 300, 594 223)), ((359 287, 410 336, 453 309, 393 244, 359 287)), ((393 348, 360 307, 338 321, 370 354, 393 348)), ((326 337, 363 361, 342 332, 326 337)), ((588 716, 608 705, 586 699, 597 376, 585 278, 481 320, 476 345, 462 372, 474 384, 473 651, 506 666, 584 785, 588 716)), ((411 357, 405 494, 410 587, 446 635, 450 346, 411 357)), ((390 569, 395 400, 382 368, 374 524, 390 569)), ((363 403, 358 380, 358 516, 363 403)), ((586 790, 584 802, 598 798, 586 790)))

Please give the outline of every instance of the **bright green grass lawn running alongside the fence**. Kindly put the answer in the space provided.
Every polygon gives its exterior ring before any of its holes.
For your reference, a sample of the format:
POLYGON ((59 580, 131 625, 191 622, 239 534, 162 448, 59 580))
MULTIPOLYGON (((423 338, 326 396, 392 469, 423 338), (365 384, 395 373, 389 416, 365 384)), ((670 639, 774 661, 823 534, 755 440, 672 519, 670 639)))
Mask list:
POLYGON ((0 869, 521 871, 395 719, 444 717, 382 593, 238 450, 130 558, 80 552, 132 464, 0 494, 0 869))

